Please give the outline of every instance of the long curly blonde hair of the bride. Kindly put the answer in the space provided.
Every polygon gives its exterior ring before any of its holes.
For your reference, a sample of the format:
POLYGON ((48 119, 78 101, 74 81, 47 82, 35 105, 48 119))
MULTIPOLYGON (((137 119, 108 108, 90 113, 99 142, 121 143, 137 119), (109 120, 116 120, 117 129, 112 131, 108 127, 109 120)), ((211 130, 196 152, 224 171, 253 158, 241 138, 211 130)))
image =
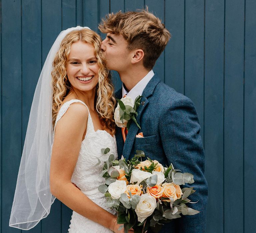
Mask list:
POLYGON ((106 62, 102 57, 101 38, 90 30, 81 29, 68 33, 60 44, 60 49, 53 60, 52 88, 53 88, 53 104, 52 119, 55 124, 57 113, 63 103, 64 98, 70 90, 70 83, 67 78, 67 59, 70 53, 71 45, 77 41, 88 43, 94 47, 94 55, 97 58, 99 66, 99 81, 96 86, 95 109, 100 117, 104 129, 111 130, 111 134, 115 133, 114 107, 116 104, 113 97, 114 86, 111 81, 111 75, 106 68, 106 62))

